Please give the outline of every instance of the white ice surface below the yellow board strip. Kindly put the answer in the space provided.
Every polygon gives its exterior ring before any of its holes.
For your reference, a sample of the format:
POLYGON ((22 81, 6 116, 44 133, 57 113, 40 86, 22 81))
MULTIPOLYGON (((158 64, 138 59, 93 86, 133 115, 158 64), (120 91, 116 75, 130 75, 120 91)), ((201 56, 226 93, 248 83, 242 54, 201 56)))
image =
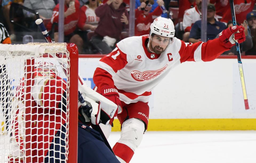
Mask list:
MULTIPOLYGON (((111 147, 120 138, 112 132, 111 147)), ((256 131, 147 131, 130 163, 255 163, 256 131)))

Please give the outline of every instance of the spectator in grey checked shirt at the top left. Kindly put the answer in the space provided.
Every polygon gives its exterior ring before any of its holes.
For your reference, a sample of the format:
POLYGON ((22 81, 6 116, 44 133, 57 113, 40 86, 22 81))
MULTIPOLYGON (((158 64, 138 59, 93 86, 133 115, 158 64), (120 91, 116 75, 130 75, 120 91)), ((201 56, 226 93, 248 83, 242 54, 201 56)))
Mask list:
MULTIPOLYGON (((23 6, 38 12, 41 19, 49 19, 53 14, 55 3, 53 0, 25 0, 23 6)), ((23 10, 23 13, 25 17, 31 17, 28 11, 23 10)))

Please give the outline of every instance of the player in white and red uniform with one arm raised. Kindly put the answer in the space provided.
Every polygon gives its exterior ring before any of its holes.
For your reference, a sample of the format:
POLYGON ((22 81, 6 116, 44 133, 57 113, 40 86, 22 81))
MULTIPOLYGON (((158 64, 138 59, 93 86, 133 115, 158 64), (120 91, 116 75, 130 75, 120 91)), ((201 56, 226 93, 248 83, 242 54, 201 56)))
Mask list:
POLYGON ((243 30, 234 26, 223 30, 217 39, 185 43, 174 37, 171 19, 158 17, 151 23, 149 35, 121 40, 99 61, 93 76, 95 90, 120 106, 121 138, 113 147, 120 162, 131 160, 147 130, 153 88, 181 63, 214 60, 230 50, 235 40, 245 41, 243 30))

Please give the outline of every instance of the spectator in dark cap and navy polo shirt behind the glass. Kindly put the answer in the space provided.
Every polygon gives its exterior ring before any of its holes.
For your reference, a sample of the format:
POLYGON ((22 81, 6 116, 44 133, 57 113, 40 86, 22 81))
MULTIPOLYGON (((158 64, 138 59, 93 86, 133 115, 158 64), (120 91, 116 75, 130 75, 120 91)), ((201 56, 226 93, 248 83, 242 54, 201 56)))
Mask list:
MULTIPOLYGON (((226 29, 224 23, 218 22, 214 18, 215 14, 215 6, 209 3, 207 5, 207 40, 215 39, 221 31, 226 29)), ((189 35, 189 42, 196 43, 199 41, 201 41, 201 20, 195 22, 189 35)))

